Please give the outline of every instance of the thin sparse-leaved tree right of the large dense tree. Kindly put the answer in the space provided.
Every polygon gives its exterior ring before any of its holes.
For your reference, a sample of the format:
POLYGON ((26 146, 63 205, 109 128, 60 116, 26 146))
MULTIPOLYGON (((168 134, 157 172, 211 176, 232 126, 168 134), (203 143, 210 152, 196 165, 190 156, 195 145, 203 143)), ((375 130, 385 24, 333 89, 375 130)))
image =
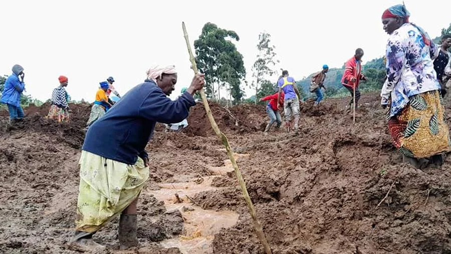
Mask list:
MULTIPOLYGON (((259 53, 257 54, 257 60, 252 66, 252 77, 256 78, 255 82, 252 82, 252 87, 255 88, 255 103, 259 98, 267 95, 269 91, 270 81, 266 80, 267 76, 273 75, 276 71, 272 68, 276 65, 278 60, 274 60, 276 57, 276 52, 274 51, 276 47, 271 45, 271 35, 268 33, 259 34, 259 43, 257 44, 257 49, 259 53), (263 88, 263 86, 265 86, 263 88), (263 88, 263 89, 260 89, 263 88)), ((271 89, 273 91, 273 89, 271 89)), ((271 92, 272 92, 271 91, 271 92)))

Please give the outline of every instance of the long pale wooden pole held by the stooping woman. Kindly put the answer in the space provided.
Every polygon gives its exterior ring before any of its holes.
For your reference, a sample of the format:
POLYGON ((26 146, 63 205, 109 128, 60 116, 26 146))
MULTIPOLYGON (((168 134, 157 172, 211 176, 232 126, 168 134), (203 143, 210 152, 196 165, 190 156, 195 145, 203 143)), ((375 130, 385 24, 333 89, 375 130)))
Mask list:
MULTIPOLYGON (((189 53, 189 60, 191 61, 192 70, 195 74, 198 73, 196 61, 194 59, 194 55, 191 51, 191 46, 189 44, 188 39, 188 33, 186 33, 185 23, 182 22, 182 28, 183 28, 183 36, 185 37, 186 47, 188 48, 189 53)), ((246 200, 246 203, 248 204, 249 212, 251 213, 252 220, 254 221, 254 227, 257 231, 257 236, 259 237, 260 241, 263 244, 263 247, 265 248, 265 252, 267 254, 271 254, 271 248, 268 244, 268 241, 266 240, 265 233, 263 232, 262 224, 260 223, 259 219, 257 218, 257 213, 255 211, 254 205, 252 204, 251 197, 249 196, 248 190, 246 189, 246 183, 244 182, 243 175, 241 174, 240 169, 238 168, 237 161, 235 160, 235 157, 232 153, 232 149, 229 144, 229 140, 225 135, 219 130, 216 121, 213 118, 213 115, 211 114, 210 106, 208 105, 208 101, 205 96, 205 92, 203 89, 200 89, 200 97, 202 98, 203 106, 205 107, 206 114, 208 116, 208 120, 210 121, 211 128, 213 128, 214 133, 219 138, 219 140, 222 142, 222 144, 225 146, 225 151, 227 151, 227 155, 229 156, 232 165, 234 166, 235 174, 237 175, 238 182, 240 183, 241 190, 243 192, 244 199, 246 200)))

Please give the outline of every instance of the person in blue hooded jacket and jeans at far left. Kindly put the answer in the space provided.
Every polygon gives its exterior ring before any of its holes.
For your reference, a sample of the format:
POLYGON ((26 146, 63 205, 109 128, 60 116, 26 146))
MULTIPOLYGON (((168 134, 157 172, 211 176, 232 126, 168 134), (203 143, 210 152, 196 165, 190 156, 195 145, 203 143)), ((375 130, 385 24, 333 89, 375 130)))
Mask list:
POLYGON ((0 102, 8 105, 10 112, 9 124, 13 125, 18 120, 24 119, 24 110, 21 107, 21 94, 25 89, 24 68, 19 64, 13 66, 13 74, 5 82, 0 102))

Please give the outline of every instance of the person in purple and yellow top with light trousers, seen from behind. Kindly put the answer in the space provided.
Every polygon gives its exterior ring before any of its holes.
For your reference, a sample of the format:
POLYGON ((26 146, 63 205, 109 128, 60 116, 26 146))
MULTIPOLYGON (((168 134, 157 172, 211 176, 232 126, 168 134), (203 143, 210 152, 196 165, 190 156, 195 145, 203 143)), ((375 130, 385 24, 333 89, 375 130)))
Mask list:
MULTIPOLYGON (((285 112, 285 127, 287 132, 291 129, 291 119, 294 117, 294 130, 297 133, 299 129, 299 117, 301 116, 299 110, 299 94, 298 88, 296 87, 296 81, 293 77, 288 76, 288 71, 282 71, 282 78, 279 79, 277 83, 279 87, 279 95, 277 101, 280 100, 280 95, 282 90, 285 93, 284 100, 284 112, 285 112)), ((279 107, 279 105, 278 105, 279 107)))

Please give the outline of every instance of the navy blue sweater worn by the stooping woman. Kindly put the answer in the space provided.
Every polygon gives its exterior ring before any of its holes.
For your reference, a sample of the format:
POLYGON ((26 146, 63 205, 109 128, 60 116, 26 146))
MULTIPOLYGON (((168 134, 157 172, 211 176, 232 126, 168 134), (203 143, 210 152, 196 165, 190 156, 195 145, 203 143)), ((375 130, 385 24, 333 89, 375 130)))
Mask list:
POLYGON ((144 149, 156 122, 180 122, 195 104, 188 92, 173 101, 153 81, 146 81, 128 91, 90 126, 82 149, 133 165, 138 156, 147 157, 144 149))

